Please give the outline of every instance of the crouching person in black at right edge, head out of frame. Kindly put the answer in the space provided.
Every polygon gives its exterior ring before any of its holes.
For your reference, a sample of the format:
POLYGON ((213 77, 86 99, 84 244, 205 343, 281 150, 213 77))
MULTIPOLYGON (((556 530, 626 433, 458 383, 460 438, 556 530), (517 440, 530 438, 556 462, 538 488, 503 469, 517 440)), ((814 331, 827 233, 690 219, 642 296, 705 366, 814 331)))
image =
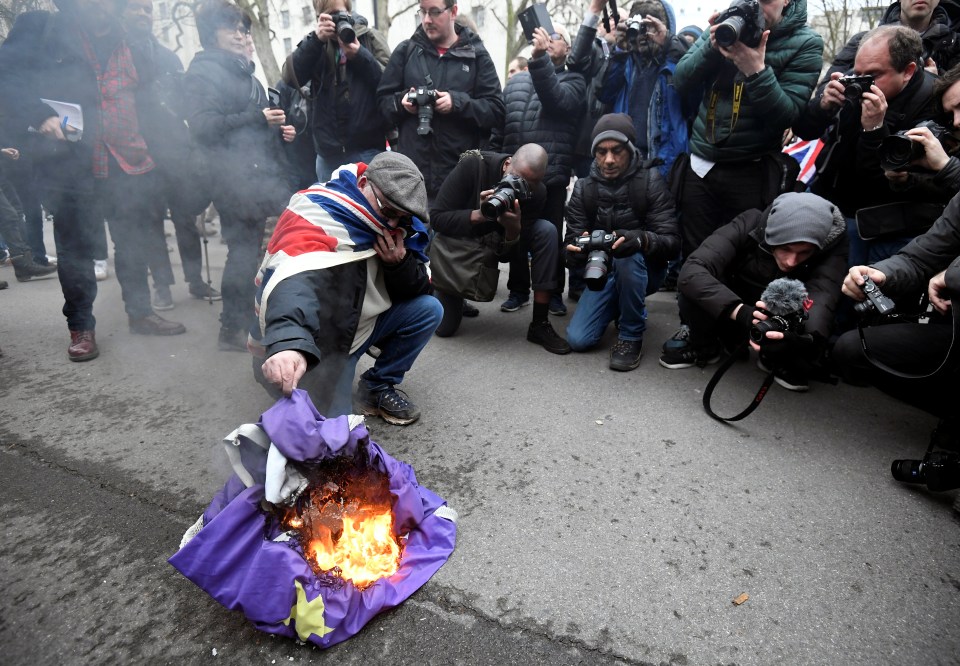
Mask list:
MULTIPOLYGON (((937 416, 937 445, 960 449, 960 419, 955 416, 960 360, 954 352, 957 313, 952 307, 953 295, 960 294, 960 197, 900 252, 872 266, 854 266, 843 281, 843 293, 858 303, 873 302, 868 292, 875 295, 874 289, 898 303, 926 292, 933 313, 927 323, 894 320, 842 335, 833 349, 841 377, 872 384, 937 416)), ((870 313, 877 308, 862 309, 870 313)))

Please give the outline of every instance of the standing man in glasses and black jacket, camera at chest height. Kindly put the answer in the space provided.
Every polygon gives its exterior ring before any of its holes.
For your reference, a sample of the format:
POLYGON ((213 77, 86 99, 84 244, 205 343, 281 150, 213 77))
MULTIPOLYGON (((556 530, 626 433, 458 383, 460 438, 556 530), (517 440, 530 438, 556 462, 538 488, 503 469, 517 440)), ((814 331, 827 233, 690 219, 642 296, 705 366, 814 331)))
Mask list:
POLYGON ((480 37, 455 24, 458 11, 456 0, 420 0, 420 26, 394 49, 377 88, 381 114, 400 132, 395 149, 423 172, 431 200, 460 154, 503 123, 496 67, 480 37))

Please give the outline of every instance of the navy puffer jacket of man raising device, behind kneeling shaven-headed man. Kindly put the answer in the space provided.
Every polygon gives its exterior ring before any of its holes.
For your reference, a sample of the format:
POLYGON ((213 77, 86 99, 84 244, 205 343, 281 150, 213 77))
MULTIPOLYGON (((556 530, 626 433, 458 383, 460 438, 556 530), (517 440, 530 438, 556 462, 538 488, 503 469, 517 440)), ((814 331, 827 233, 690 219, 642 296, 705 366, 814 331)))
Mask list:
POLYGON ((573 153, 586 110, 583 75, 556 67, 546 54, 507 81, 503 90, 506 120, 495 128, 494 150, 513 153, 526 143, 543 146, 550 156, 544 185, 565 185, 573 172, 573 153))

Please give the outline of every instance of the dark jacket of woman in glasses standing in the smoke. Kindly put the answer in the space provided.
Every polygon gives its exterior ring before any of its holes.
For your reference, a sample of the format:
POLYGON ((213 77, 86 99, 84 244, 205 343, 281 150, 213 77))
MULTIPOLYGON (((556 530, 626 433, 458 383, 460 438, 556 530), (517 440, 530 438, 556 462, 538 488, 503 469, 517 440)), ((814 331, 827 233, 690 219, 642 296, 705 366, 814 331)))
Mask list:
POLYGON ((291 187, 280 130, 267 125, 263 86, 246 58, 220 49, 194 56, 184 80, 187 120, 206 154, 217 208, 251 218, 278 215, 291 187))

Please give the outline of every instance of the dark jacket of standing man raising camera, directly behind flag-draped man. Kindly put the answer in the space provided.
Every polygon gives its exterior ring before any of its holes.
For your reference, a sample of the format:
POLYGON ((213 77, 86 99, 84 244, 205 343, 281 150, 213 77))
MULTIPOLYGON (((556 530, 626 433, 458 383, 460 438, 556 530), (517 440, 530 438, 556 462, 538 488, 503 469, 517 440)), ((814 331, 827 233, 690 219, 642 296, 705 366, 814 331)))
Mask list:
POLYGON ((294 88, 310 84, 310 127, 317 154, 333 158, 348 151, 385 145, 386 123, 377 108, 377 87, 390 58, 387 40, 378 31, 354 26, 360 49, 339 64, 335 39, 304 37, 284 67, 284 82, 294 88))

